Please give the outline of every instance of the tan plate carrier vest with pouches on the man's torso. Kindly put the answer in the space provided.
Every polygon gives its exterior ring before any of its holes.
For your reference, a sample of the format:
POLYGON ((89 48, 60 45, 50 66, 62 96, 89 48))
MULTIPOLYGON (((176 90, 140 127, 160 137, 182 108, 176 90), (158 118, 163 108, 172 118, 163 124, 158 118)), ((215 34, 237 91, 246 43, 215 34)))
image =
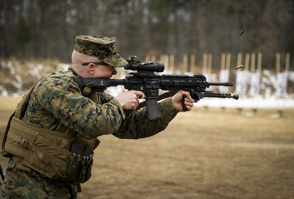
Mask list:
MULTIPOLYGON (((65 73, 69 77, 73 76, 71 71, 65 73)), ((8 158, 17 156, 18 170, 30 172, 34 169, 49 178, 75 184, 84 183, 91 177, 93 150, 100 141, 97 138, 80 136, 70 128, 59 133, 23 121, 29 98, 37 83, 26 93, 11 115, 4 134, 1 155, 8 158), (71 153, 72 144, 90 147, 90 155, 71 153)))

